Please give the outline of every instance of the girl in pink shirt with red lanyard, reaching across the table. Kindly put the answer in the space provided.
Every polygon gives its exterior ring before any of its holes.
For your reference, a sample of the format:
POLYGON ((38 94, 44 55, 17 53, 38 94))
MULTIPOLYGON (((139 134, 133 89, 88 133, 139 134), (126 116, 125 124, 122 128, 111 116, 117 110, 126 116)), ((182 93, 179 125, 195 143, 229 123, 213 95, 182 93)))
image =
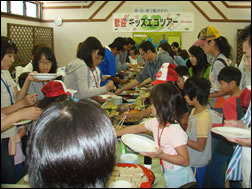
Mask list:
POLYGON ((189 166, 187 135, 177 123, 183 115, 182 96, 172 83, 160 83, 153 87, 150 95, 152 114, 155 118, 117 131, 117 136, 127 133, 152 131, 155 142, 159 145, 156 152, 143 153, 151 158, 160 158, 164 171, 166 187, 177 188, 195 182, 189 166))

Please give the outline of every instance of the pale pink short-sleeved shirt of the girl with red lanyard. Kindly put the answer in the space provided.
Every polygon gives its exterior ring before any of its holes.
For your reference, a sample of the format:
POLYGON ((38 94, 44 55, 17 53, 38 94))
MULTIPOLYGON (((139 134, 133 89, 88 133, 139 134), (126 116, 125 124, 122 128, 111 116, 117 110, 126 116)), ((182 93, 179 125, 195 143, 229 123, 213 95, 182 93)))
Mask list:
MULTIPOLYGON (((162 131, 162 129, 159 129, 158 134, 158 120, 156 118, 153 118, 147 121, 144 126, 147 130, 152 131, 154 140, 158 144, 158 136, 160 137, 162 131)), ((164 128, 164 131, 161 136, 160 148, 163 150, 164 153, 168 155, 177 155, 175 148, 182 145, 186 145, 187 140, 187 134, 179 124, 170 124, 168 127, 164 128)), ((164 160, 163 162, 164 168, 167 170, 175 170, 181 167, 179 165, 174 165, 164 160)))

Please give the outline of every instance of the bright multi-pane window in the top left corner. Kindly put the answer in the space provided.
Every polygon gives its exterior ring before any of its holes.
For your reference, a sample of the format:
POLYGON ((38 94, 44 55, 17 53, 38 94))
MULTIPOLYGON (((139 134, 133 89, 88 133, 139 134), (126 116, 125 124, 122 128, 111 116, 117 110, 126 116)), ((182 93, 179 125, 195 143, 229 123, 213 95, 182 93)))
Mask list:
POLYGON ((41 18, 40 2, 34 1, 1 1, 1 12, 24 17, 41 18))

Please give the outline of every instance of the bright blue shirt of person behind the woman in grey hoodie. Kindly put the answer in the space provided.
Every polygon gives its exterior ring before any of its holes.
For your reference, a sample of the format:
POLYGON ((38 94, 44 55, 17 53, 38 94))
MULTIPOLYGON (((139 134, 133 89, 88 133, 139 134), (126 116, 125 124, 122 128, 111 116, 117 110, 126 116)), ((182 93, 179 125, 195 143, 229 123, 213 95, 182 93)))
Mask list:
MULTIPOLYGON (((111 75, 116 76, 116 63, 114 54, 105 48, 105 56, 104 60, 98 66, 101 70, 102 75, 111 75)), ((108 82, 108 79, 101 82, 101 87, 104 86, 108 82)))

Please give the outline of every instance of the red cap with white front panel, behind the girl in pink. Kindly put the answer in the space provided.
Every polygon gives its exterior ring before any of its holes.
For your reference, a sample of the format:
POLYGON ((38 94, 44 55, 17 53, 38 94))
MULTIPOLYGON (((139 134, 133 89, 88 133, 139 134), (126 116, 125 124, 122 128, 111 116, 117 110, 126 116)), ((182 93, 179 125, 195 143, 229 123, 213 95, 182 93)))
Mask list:
POLYGON ((160 70, 155 74, 157 77, 152 85, 157 85, 160 83, 167 83, 168 81, 177 81, 178 75, 174 70, 176 68, 175 64, 172 63, 164 63, 160 70))

